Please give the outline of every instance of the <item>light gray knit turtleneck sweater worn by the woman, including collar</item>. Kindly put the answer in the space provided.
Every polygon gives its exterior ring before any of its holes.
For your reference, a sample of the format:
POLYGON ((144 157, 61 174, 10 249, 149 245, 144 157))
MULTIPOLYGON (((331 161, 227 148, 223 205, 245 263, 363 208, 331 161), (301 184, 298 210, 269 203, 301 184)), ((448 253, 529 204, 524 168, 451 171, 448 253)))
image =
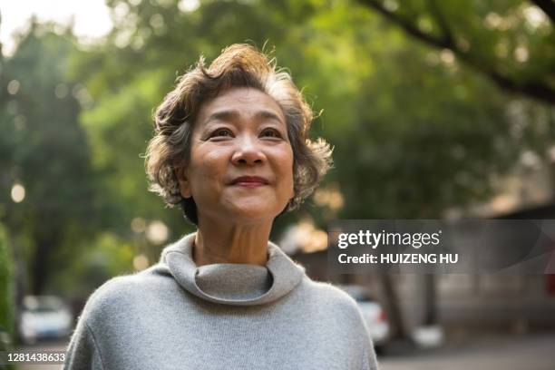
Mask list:
POLYGON ((197 267, 195 234, 87 301, 64 369, 377 369, 355 300, 268 242, 266 267, 197 267))

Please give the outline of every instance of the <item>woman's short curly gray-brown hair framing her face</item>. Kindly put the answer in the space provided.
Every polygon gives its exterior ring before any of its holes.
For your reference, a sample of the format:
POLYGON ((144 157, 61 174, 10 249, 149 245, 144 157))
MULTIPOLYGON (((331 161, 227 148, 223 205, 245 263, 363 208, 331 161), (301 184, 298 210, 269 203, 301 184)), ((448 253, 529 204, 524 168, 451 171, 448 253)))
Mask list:
POLYGON ((176 170, 190 161, 190 137, 203 102, 233 87, 250 87, 274 98, 284 112, 293 150, 295 196, 287 210, 296 209, 316 189, 332 165, 329 144, 308 137, 313 112, 291 80, 277 69, 275 60, 248 44, 225 48, 208 68, 204 58, 181 75, 154 113, 154 136, 145 155, 149 190, 158 193, 170 207, 180 204, 187 219, 198 224, 196 204, 184 199, 176 170))

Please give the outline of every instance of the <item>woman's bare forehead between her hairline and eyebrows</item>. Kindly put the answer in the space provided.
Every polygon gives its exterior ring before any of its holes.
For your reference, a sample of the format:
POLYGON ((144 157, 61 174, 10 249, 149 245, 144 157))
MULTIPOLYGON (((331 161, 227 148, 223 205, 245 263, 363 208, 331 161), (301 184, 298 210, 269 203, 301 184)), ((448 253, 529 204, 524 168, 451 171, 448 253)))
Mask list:
POLYGON ((281 107, 267 93, 250 87, 237 87, 220 93, 209 102, 200 106, 198 122, 205 122, 215 112, 235 111, 240 115, 252 117, 259 112, 273 112, 285 123, 285 116, 281 107))

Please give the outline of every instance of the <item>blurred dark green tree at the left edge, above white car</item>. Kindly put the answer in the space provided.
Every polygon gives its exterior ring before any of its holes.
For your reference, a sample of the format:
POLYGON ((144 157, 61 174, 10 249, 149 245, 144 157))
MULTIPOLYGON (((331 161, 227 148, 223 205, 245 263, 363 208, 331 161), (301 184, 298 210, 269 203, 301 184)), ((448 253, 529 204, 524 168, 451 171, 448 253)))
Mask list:
POLYGON ((65 76, 73 36, 53 27, 32 22, 3 61, 0 86, 0 220, 15 248, 27 246, 18 256, 29 260, 34 294, 71 264, 74 246, 101 223, 89 144, 78 123, 88 95, 65 76))

